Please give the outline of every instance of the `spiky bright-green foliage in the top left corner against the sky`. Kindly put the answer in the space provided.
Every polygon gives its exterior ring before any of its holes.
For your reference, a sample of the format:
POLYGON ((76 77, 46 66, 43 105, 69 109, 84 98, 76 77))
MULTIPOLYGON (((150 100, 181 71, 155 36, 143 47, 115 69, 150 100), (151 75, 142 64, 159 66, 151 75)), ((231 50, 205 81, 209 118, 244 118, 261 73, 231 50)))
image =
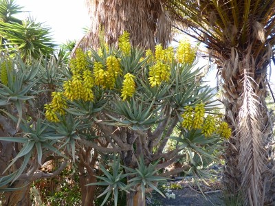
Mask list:
POLYGON ((13 14, 22 12, 14 1, 1 0, 0 3, 0 52, 9 52, 10 56, 21 54, 24 61, 54 52, 56 45, 52 43, 50 28, 31 18, 24 21, 14 18, 13 14))

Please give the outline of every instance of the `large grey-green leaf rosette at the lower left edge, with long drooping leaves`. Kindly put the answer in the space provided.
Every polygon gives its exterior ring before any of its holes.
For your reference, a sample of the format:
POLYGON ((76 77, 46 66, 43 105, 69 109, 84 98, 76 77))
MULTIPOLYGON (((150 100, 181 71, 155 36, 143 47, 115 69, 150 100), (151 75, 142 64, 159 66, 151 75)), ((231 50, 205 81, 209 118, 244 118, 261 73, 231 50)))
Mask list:
MULTIPOLYGON (((10 115, 5 112, 6 115, 10 117, 14 122, 17 122, 17 117, 10 115)), ((13 183, 17 178, 24 172, 28 167, 30 159, 35 155, 37 162, 42 165, 43 153, 51 151, 65 157, 62 152, 55 148, 53 145, 59 140, 63 139, 64 136, 57 135, 54 130, 50 128, 48 124, 45 124, 41 119, 38 119, 36 124, 29 124, 25 119, 21 119, 19 124, 21 130, 23 131, 23 137, 0 137, 1 141, 12 141, 22 144, 22 148, 11 163, 5 168, 4 172, 9 170, 12 165, 19 159, 23 158, 19 170, 12 172, 8 176, 4 176, 0 179, 0 187, 7 185, 8 183, 13 183)), ((8 190, 8 189, 4 189, 8 190)))

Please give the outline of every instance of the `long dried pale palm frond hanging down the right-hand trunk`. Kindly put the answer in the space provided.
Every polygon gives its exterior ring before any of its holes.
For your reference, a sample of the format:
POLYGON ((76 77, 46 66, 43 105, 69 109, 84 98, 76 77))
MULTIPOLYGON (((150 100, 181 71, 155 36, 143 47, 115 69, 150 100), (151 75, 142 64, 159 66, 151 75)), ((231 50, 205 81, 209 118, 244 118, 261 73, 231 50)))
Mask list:
POLYGON ((261 133, 261 107, 260 100, 254 93, 255 82, 251 78, 251 73, 244 70, 243 77, 243 104, 239 112, 239 138, 240 155, 239 167, 243 174, 243 184, 246 194, 246 202, 250 205, 262 205, 263 183, 262 173, 265 170, 264 139, 259 138, 261 133))

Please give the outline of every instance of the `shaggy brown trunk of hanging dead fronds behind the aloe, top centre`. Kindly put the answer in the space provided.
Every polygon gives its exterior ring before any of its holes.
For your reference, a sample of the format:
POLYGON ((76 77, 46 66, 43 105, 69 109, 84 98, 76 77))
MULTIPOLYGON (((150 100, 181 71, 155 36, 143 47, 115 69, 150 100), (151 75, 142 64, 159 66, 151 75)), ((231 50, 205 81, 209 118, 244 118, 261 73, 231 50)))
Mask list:
MULTIPOLYGON (((98 47, 100 29, 104 29, 105 41, 117 43, 122 32, 130 33, 132 45, 142 48, 155 48, 155 43, 166 47, 171 40, 171 22, 161 1, 136 0, 86 0, 91 27, 82 47, 98 47)), ((78 46, 77 46, 78 47, 78 46)))

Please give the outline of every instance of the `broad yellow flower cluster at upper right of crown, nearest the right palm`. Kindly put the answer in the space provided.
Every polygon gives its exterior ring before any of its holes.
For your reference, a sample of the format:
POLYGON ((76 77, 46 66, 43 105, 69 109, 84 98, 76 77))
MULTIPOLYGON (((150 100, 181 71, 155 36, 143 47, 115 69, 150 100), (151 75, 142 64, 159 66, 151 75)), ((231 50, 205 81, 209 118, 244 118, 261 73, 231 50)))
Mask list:
POLYGON ((196 50, 191 47, 190 42, 186 39, 179 42, 176 55, 179 63, 192 64, 196 56, 196 50))

